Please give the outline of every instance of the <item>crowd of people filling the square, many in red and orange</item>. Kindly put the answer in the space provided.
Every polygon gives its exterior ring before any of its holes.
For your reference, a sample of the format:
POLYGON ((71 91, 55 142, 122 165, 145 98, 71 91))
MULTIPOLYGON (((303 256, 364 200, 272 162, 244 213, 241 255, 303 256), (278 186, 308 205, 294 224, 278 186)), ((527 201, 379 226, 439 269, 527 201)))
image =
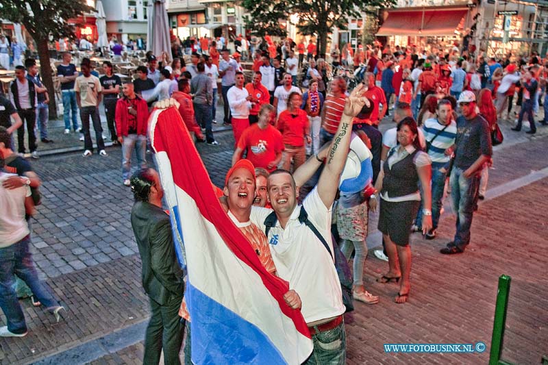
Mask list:
MULTIPOLYGON (((180 318, 190 319, 170 221, 162 210, 162 184, 158 173, 147 167, 147 121, 155 101, 174 99, 195 141, 216 146, 219 142, 212 124, 217 123, 217 98, 223 99, 223 123, 232 125, 234 153, 225 186, 219 187, 221 203, 265 268, 289 281, 292 290, 284 299, 293 309, 301 309, 314 342, 308 364, 345 364, 343 314, 347 306, 334 263, 338 245, 347 262, 353 262, 353 299, 379 303, 379 297, 364 286, 369 216, 378 212, 383 249, 375 251, 375 256, 386 260, 388 267, 377 281, 397 284, 393 301, 406 303, 411 290, 410 235, 420 231, 425 239, 436 238, 446 194, 457 221, 453 238, 440 253, 464 253, 470 244, 473 214, 477 200, 484 197, 492 163, 491 134, 504 112, 511 116, 516 93, 521 110, 514 130, 521 129, 527 114, 527 133, 536 131, 534 116, 548 72, 536 55, 527 62, 510 62, 510 58, 497 62, 483 56, 472 60, 466 55, 419 55, 412 48, 393 52, 343 47, 342 52, 332 52, 333 64, 364 68, 363 84, 347 90, 347 80, 327 77, 332 66, 317 59, 316 50, 304 47, 303 41, 297 45, 284 40, 278 52, 267 37, 254 42, 240 37, 236 46, 240 49, 232 54, 221 39, 193 40, 181 45, 185 49, 190 45, 188 64, 179 51, 173 51, 171 62, 164 57, 158 62, 149 53, 147 65, 136 68, 136 78, 123 82, 108 61, 103 62, 100 77, 87 58, 79 64, 80 75, 70 53, 64 53, 58 66, 64 132, 70 134, 72 129, 81 134, 87 158, 93 153, 91 120, 98 153, 106 156, 99 118, 102 100, 110 140, 122 146, 121 180, 131 186, 136 201, 132 227, 142 257, 143 286, 152 307, 145 338, 147 363, 158 363, 162 347, 164 359, 178 362, 184 330, 180 318), (216 41, 221 42, 220 48, 216 41), (240 59, 248 50, 253 73, 246 83, 240 59), (297 71, 305 64, 307 86, 303 90, 297 85, 297 71), (382 134, 379 123, 390 114, 395 127, 382 134), (350 131, 373 156, 371 184, 353 194, 338 192, 350 131), (139 170, 132 175, 133 151, 139 170), (306 185, 311 187, 308 193, 301 189, 306 185), (332 239, 332 231, 338 240, 332 239), (310 286, 310 282, 317 285, 310 286)), ((0 336, 25 336, 15 277, 23 279, 38 305, 46 305, 58 319, 63 309, 40 287, 28 253, 25 212, 33 212, 32 188, 40 181, 22 157, 38 158, 37 113, 40 140, 51 142, 47 113, 43 121, 39 116, 40 105, 47 105, 49 96, 37 75, 36 61, 27 59, 25 66, 16 67, 10 97, 11 101, 0 96, 0 161, 5 171, 13 173, 0 172, 0 199, 13 212, 0 217, 0 236, 5 238, 0 244, 0 264, 5 267, 0 306, 8 317, 0 336), (14 131, 19 154, 12 151, 14 131), (14 265, 3 258, 10 250, 17 257, 14 265)), ((190 347, 185 353, 190 356, 190 347)))

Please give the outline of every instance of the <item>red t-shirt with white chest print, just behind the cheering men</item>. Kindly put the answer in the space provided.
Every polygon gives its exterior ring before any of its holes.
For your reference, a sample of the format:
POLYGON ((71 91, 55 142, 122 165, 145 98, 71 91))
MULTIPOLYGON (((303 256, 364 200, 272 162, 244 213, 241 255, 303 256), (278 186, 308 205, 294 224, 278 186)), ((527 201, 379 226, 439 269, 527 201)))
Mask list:
MULTIPOLYGON (((253 166, 269 170, 267 166, 275 160, 277 153, 284 151, 284 142, 282 134, 272 125, 260 129, 258 123, 254 123, 243 131, 238 140, 238 148, 247 149, 247 160, 253 166)), ((269 171, 275 169, 276 166, 269 171)))

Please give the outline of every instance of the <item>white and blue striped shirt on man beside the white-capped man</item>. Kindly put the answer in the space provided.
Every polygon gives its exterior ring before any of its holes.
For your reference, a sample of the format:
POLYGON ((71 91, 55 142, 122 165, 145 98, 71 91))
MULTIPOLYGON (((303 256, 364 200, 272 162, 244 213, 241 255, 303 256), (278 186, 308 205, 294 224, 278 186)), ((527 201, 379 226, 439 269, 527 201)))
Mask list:
MULTIPOLYGON (((438 131, 445 128, 438 122, 437 118, 429 118, 423 125, 423 132, 427 142, 432 142, 434 136, 438 131)), ((455 138, 457 137, 457 123, 451 121, 451 123, 442 131, 432 142, 428 149, 428 155, 432 162, 449 162, 450 156, 445 155, 445 150, 455 144, 455 138)))

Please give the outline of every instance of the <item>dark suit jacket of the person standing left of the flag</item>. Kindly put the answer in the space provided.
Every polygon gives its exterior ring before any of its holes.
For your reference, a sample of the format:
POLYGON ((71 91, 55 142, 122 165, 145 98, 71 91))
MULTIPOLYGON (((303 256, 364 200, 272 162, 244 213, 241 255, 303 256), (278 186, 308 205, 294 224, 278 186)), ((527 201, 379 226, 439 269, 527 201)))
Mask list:
POLYGON ((177 263, 169 216, 151 203, 132 208, 132 228, 142 262, 142 286, 160 305, 183 297, 183 272, 177 263))

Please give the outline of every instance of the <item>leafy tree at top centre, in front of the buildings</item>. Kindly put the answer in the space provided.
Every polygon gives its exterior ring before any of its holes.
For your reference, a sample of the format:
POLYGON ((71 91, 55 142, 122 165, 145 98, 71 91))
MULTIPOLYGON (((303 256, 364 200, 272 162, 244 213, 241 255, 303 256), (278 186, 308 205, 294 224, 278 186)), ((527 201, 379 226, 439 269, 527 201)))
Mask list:
MULTIPOLYGON (((301 34, 315 34, 318 37, 320 55, 325 54, 327 34, 333 27, 346 29, 349 17, 359 18, 362 14, 390 8, 396 0, 242 0, 251 17, 248 26, 256 34, 280 34, 279 21, 288 21, 291 14, 297 14, 297 27, 301 34)), ((284 35, 285 29, 281 32, 284 35)))

